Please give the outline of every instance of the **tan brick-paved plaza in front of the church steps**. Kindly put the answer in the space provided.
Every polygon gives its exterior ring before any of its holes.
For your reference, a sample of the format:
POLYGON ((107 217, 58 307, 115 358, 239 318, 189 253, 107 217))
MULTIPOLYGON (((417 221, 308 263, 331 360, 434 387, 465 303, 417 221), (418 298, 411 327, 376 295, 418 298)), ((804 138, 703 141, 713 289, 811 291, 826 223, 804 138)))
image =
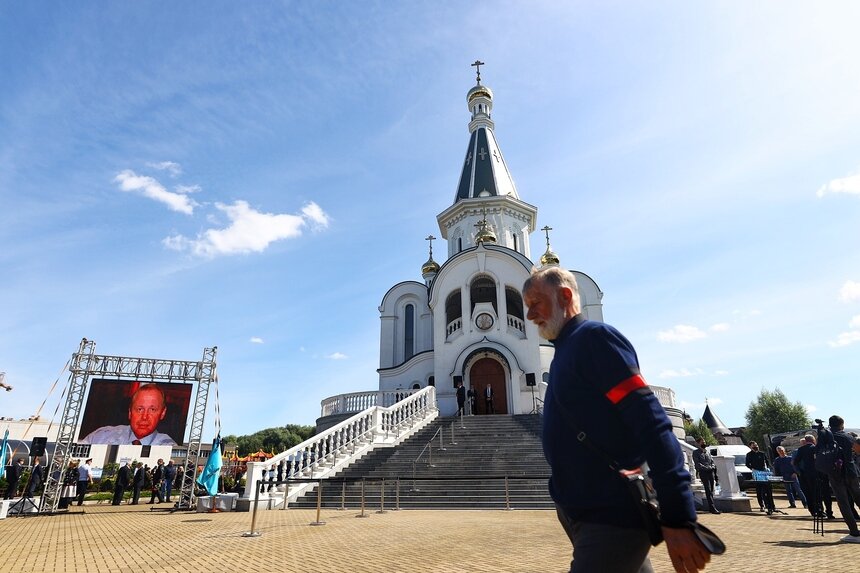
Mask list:
MULTIPOLYGON (((567 538, 554 512, 540 510, 322 513, 261 511, 259 537, 250 513, 151 511, 150 505, 84 505, 68 514, 0 520, 0 570, 29 572, 279 571, 558 572, 569 561, 567 538)), ((167 504, 156 507, 168 507, 167 504)), ((822 537, 802 509, 701 515, 728 552, 708 571, 855 572, 860 545, 840 543, 841 521, 822 537)), ((671 565, 665 548, 652 551, 657 572, 671 565)), ((603 573, 603 572, 600 572, 603 573)), ((611 573, 611 572, 605 572, 611 573)))

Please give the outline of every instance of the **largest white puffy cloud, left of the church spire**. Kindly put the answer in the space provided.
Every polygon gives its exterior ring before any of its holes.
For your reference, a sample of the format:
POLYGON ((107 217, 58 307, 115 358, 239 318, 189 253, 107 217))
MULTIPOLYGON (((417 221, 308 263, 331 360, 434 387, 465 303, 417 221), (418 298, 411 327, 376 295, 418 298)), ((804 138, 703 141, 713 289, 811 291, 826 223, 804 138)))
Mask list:
POLYGON ((215 207, 227 215, 228 227, 208 229, 196 239, 182 235, 167 237, 162 240, 164 246, 203 257, 259 253, 275 241, 301 236, 309 220, 319 227, 328 224, 328 216, 315 203, 308 203, 302 215, 261 213, 246 201, 236 201, 232 205, 215 203, 215 207))

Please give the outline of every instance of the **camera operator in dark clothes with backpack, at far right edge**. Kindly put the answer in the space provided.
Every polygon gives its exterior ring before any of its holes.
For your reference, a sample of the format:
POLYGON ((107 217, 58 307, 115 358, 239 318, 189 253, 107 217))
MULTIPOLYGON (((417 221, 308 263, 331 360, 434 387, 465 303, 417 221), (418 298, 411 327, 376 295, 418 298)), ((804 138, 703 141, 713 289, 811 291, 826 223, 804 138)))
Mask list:
POLYGON ((823 420, 815 422, 818 424, 815 468, 827 475, 839 512, 848 526, 848 535, 842 541, 860 543, 860 529, 852 507, 853 502, 860 504, 860 479, 851 457, 854 438, 845 433, 845 420, 841 416, 830 416, 829 430, 824 428, 823 420))

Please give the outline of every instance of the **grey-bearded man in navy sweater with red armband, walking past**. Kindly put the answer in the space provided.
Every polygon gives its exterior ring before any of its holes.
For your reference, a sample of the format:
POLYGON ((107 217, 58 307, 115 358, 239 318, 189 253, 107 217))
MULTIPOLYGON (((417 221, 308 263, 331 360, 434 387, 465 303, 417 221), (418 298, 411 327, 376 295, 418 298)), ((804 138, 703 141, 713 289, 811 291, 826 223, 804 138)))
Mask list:
POLYGON ((523 285, 527 318, 555 346, 544 399, 542 441, 550 494, 574 548, 571 573, 651 572, 651 543, 627 485, 606 460, 650 468, 663 537, 675 570, 704 569, 710 554, 696 521, 690 474, 672 424, 639 373, 636 352, 615 328, 586 320, 572 273, 532 272, 523 285))

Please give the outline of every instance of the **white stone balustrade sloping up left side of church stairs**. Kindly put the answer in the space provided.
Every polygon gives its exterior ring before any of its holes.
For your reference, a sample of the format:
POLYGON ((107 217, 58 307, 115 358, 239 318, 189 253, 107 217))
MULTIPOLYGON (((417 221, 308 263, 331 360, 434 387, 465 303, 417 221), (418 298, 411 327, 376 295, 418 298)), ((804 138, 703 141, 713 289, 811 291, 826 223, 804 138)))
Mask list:
MULTIPOLYGON (((265 480, 264 472, 269 467, 278 467, 281 476, 308 479, 327 477, 376 447, 397 445, 438 415, 436 388, 433 386, 415 392, 391 406, 367 408, 271 459, 248 462, 242 498, 251 499, 260 493, 254 491, 254 484, 273 485, 273 480, 265 480)), ((312 485, 302 483, 284 497, 295 497, 312 485)))

